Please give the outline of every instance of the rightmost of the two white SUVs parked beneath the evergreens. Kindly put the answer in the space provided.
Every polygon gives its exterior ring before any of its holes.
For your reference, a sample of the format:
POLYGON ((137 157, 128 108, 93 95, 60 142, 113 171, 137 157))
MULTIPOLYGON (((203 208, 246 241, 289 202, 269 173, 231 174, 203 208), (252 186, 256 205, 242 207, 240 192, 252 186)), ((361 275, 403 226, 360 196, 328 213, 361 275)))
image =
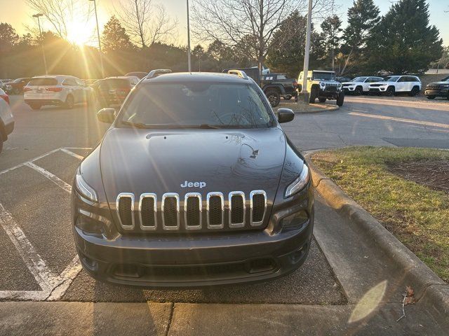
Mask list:
POLYGON ((388 76, 377 83, 370 83, 370 92, 392 96, 396 93, 408 92, 415 96, 421 91, 421 80, 417 76, 388 76))

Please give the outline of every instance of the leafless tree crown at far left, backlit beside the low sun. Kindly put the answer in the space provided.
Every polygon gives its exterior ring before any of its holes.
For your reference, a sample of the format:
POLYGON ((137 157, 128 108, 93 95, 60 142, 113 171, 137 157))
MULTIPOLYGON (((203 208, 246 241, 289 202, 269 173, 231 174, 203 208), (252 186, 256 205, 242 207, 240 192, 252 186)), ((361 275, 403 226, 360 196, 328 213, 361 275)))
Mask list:
POLYGON ((87 22, 93 15, 91 1, 76 0, 26 0, 36 13, 41 13, 61 38, 67 38, 69 23, 87 22))

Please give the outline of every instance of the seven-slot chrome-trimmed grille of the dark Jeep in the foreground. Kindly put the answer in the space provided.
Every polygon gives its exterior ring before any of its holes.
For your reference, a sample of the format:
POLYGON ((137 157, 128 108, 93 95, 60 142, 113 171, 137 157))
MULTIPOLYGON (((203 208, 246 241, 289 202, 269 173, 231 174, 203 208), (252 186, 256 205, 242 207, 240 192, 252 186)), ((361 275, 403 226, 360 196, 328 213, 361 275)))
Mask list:
POLYGON ((119 225, 125 232, 179 232, 262 227, 267 212, 267 194, 254 190, 249 197, 241 191, 225 196, 208 193, 165 193, 158 203, 154 193, 144 193, 135 207, 132 193, 121 193, 116 200, 119 225))

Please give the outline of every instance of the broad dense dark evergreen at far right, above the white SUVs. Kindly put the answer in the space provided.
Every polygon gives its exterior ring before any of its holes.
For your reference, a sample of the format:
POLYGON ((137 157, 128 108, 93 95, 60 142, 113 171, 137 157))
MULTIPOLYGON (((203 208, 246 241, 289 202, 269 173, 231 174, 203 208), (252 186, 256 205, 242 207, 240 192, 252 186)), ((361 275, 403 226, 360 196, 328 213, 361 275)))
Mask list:
POLYGON ((391 73, 420 73, 441 57, 443 40, 429 25, 425 0, 394 3, 375 31, 371 62, 391 73))

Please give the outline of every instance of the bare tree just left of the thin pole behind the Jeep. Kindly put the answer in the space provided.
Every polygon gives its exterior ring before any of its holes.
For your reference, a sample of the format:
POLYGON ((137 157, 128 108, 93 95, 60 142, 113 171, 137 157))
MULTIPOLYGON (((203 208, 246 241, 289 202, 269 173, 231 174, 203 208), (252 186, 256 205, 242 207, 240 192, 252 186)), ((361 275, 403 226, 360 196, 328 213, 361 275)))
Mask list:
POLYGON ((153 0, 121 0, 116 13, 133 42, 142 48, 168 42, 177 27, 177 20, 153 0))

